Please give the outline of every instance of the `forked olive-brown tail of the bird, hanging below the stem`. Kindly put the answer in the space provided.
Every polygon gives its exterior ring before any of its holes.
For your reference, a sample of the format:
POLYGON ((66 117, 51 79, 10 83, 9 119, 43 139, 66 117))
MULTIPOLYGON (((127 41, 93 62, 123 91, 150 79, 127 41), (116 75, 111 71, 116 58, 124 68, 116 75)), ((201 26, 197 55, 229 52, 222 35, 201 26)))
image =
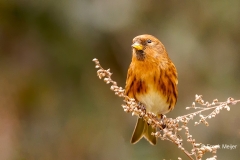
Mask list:
POLYGON ((152 128, 152 126, 148 125, 142 118, 138 118, 131 143, 135 144, 144 137, 150 144, 155 145, 157 143, 157 138, 151 135, 152 132, 155 133, 156 128, 152 128))

